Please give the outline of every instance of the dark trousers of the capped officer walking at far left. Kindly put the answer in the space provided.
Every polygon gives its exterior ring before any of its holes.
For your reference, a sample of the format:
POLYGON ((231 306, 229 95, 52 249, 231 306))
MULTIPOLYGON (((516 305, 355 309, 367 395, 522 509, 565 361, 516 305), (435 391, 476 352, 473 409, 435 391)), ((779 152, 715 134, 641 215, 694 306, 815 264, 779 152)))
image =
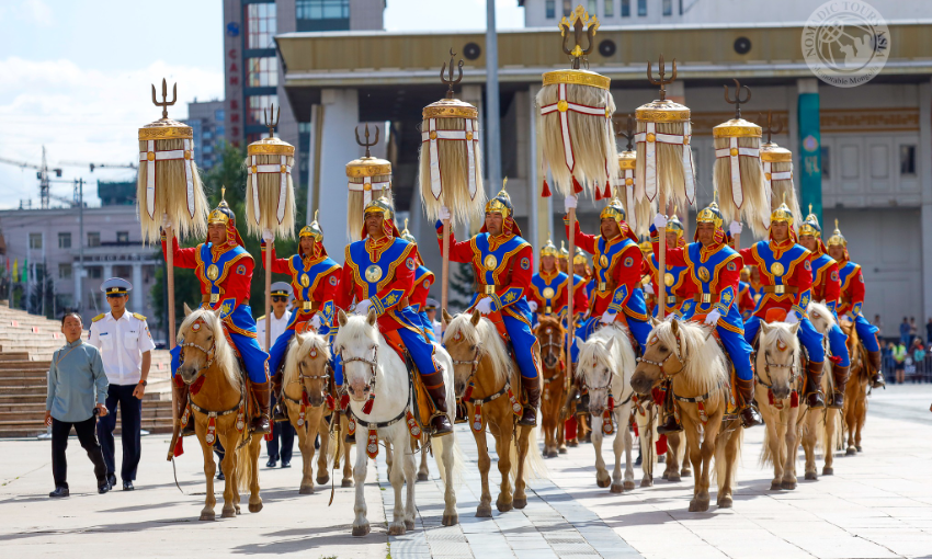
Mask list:
POLYGON ((106 392, 106 409, 110 413, 98 421, 98 440, 106 464, 106 475, 116 475, 116 447, 113 430, 116 427, 116 404, 120 403, 120 425, 123 427, 123 464, 120 477, 123 481, 136 480, 136 467, 143 455, 140 431, 143 427, 143 400, 133 396, 136 385, 110 385, 106 392))

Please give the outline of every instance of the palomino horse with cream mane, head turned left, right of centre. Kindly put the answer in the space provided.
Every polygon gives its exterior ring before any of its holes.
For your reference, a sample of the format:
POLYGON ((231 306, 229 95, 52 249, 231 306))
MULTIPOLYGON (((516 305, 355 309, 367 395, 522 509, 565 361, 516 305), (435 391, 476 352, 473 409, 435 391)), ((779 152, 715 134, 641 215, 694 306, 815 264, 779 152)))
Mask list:
POLYGON ((728 362, 708 327, 695 322, 651 321, 653 330, 632 377, 637 393, 649 395, 664 379, 680 410, 689 440, 695 489, 690 512, 708 510, 708 478, 715 456, 718 506, 731 506, 743 430, 738 419, 725 419, 729 401, 728 362))

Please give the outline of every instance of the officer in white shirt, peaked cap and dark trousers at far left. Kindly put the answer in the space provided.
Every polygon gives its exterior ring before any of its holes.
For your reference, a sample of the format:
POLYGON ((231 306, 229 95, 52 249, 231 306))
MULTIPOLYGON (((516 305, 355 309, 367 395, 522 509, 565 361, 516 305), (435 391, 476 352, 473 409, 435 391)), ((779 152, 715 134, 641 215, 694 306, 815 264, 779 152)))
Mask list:
POLYGON ((126 310, 133 284, 120 277, 111 277, 101 284, 106 294, 110 312, 94 317, 88 343, 100 350, 103 369, 110 381, 106 392, 106 409, 113 413, 98 421, 98 440, 106 463, 106 480, 116 487, 116 447, 113 430, 116 427, 116 407, 120 406, 121 442, 123 461, 120 477, 123 490, 133 491, 136 468, 143 456, 143 397, 146 395, 149 365, 156 344, 149 332, 146 317, 126 310))

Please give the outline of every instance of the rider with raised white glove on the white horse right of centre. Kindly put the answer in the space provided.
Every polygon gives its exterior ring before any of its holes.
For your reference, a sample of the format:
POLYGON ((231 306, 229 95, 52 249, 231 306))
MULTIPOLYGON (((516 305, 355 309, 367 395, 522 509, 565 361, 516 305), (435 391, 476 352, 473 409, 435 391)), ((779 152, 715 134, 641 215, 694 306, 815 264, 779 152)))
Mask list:
MULTIPOLYGON (((567 196, 566 209, 575 208, 576 196, 567 196)), ((650 333, 649 316, 640 290, 641 253, 637 238, 625 223, 625 208, 615 198, 602 209, 600 235, 586 235, 576 223, 576 240, 586 252, 594 255, 596 282, 590 301, 591 313, 583 323, 580 338, 586 340, 601 324, 611 324, 620 315, 641 349, 650 333)), ((567 236, 569 221, 564 217, 567 236)))

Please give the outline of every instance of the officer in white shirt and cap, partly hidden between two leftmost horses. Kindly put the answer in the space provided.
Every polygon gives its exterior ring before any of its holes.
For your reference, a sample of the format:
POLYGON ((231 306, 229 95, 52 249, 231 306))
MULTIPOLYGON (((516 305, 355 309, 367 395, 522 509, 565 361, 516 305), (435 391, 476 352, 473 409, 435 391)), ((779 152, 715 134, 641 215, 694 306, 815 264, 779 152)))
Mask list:
MULTIPOLYGON (((288 297, 292 295, 292 286, 285 282, 275 282, 272 284, 272 342, 275 341, 288 328, 292 320, 292 313, 288 312, 288 297)), ((265 350, 265 317, 260 317, 257 321, 259 333, 259 346, 265 350)), ((282 360, 284 365, 285 360, 282 360)), ((276 370, 270 370, 270 375, 275 376, 276 370)), ((292 453, 295 446, 295 429, 288 421, 287 415, 280 413, 280 393, 281 387, 275 387, 272 390, 272 409, 275 412, 272 414, 272 432, 265 435, 265 452, 269 455, 269 461, 265 466, 274 468, 279 460, 282 460, 283 468, 292 467, 292 453)))

